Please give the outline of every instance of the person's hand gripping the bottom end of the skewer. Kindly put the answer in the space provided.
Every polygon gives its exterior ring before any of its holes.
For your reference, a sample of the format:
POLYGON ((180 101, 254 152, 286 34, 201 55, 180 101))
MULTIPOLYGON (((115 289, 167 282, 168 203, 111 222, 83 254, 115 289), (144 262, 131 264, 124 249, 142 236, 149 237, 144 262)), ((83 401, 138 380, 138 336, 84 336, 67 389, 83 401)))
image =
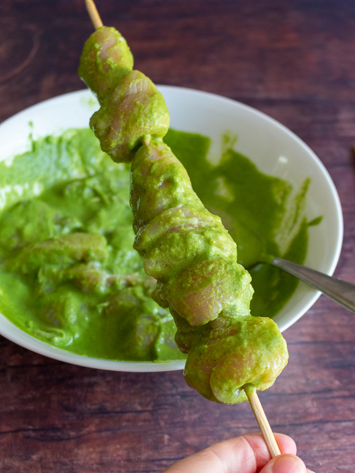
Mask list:
POLYGON ((296 456, 296 444, 275 434, 281 455, 270 459, 261 434, 247 434, 216 443, 179 460, 163 473, 314 473, 296 456))

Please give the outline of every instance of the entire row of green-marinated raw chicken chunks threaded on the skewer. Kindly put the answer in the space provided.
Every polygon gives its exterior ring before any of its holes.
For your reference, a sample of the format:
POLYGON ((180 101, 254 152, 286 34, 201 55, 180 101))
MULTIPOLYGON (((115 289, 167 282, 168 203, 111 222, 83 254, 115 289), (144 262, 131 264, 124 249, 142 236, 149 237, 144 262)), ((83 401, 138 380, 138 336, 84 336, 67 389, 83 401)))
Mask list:
POLYGON ((244 386, 267 389, 282 372, 286 343, 274 321, 250 315, 251 277, 237 263, 237 245, 163 142, 162 95, 132 67, 115 29, 87 40, 79 74, 101 104, 91 127, 113 161, 132 162, 134 248, 157 281, 152 297, 175 319, 177 345, 188 353, 185 380, 212 401, 246 401, 244 386))

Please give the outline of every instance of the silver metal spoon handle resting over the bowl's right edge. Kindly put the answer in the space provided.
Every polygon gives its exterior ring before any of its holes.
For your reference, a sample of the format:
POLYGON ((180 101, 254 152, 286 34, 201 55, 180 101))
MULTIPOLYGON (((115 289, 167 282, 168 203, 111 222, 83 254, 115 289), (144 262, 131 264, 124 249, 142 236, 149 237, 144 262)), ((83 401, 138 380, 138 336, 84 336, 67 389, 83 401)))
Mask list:
POLYGON ((316 270, 311 270, 310 268, 283 260, 282 258, 274 258, 271 264, 293 274, 298 277, 298 279, 301 279, 301 281, 318 289, 325 296, 329 297, 329 299, 332 299, 337 304, 355 314, 355 284, 328 276, 316 270))

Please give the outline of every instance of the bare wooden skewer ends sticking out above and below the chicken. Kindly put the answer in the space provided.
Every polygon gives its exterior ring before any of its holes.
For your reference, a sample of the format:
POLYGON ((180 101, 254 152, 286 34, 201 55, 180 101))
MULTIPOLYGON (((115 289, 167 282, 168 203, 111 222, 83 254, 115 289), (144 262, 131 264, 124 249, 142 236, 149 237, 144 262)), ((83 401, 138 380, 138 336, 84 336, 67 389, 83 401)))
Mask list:
MULTIPOLYGON (((96 5, 93 0, 85 0, 86 9, 91 18, 92 24, 94 25, 95 30, 100 28, 103 25, 103 22, 100 18, 99 12, 97 11, 96 5)), ((259 425, 262 436, 265 440, 265 443, 269 449, 270 455, 272 458, 281 455, 279 445, 275 439, 274 433, 271 430, 269 421, 265 415, 264 409, 259 401, 259 398, 256 394, 255 389, 245 387, 245 392, 248 396, 248 400, 251 406, 251 409, 255 415, 256 421, 259 425)))

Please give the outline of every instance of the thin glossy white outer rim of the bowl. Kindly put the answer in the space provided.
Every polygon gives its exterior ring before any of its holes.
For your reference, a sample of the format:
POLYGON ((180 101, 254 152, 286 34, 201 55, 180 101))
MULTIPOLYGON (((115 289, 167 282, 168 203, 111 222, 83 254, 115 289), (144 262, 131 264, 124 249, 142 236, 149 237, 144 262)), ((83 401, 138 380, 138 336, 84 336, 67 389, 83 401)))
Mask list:
MULTIPOLYGON (((343 234, 344 234, 344 223, 343 223, 343 214, 341 203, 339 199, 339 195, 335 188, 334 182, 331 179, 328 171, 326 170, 325 166, 322 164, 318 156, 314 153, 314 151, 297 135, 295 135, 291 130, 287 127, 282 125, 280 122, 275 120, 274 118, 270 117, 269 115, 257 110, 249 105, 246 105, 242 102, 229 99, 227 97, 223 97, 217 94, 213 94, 210 92, 204 92, 201 90, 196 90, 192 88, 186 87, 178 87, 178 86, 170 86, 170 85, 158 85, 157 86, 160 92, 164 95, 165 93, 182 93, 187 96, 198 95, 202 98, 207 98, 209 100, 215 101, 219 103, 228 104, 228 106, 234 106, 239 109, 245 109, 249 112, 251 111, 253 114, 256 114, 263 120, 268 121, 273 126, 276 126, 279 130, 283 133, 288 135, 291 139, 295 140, 305 151, 306 153, 316 162, 320 172, 323 174, 323 177, 326 179, 326 182, 329 186, 329 190, 331 192, 331 196, 333 198, 335 208, 336 208, 336 215, 337 215, 337 222, 335 224, 338 233, 336 237, 336 244, 333 250, 333 256, 331 258, 330 263, 328 264, 328 268, 325 271, 328 275, 332 275, 336 265, 338 263, 340 252, 342 248, 343 242, 343 234)), ((78 90, 74 92, 69 92, 66 94, 62 94, 44 101, 40 101, 18 113, 9 117, 8 119, 4 120, 0 127, 8 126, 11 124, 12 121, 16 122, 19 118, 22 117, 23 114, 31 113, 32 111, 36 111, 37 108, 41 106, 47 106, 48 104, 54 103, 56 101, 63 101, 66 99, 71 99, 71 97, 75 97, 78 99, 92 99, 93 95, 89 89, 78 90)), ((54 132, 55 134, 55 132, 54 132)), ((302 310, 298 312, 298 314, 288 320, 286 323, 279 325, 281 332, 284 332, 288 327, 294 324, 304 313, 309 310, 309 308, 318 300, 320 297, 320 291, 313 290, 314 294, 309 299, 309 302, 302 307, 302 310)), ((5 338, 17 343, 18 345, 30 349, 38 354, 53 358, 55 360, 71 363, 74 365, 79 365, 88 368, 96 368, 96 369, 104 369, 109 371, 122 371, 122 372, 162 372, 162 371, 176 371, 182 370, 185 365, 185 360, 172 360, 169 362, 133 362, 133 361, 113 361, 113 360, 106 360, 101 358, 94 358, 85 355, 79 355, 77 353, 73 353, 67 351, 62 348, 55 347, 50 345, 40 339, 37 339, 15 324, 13 324, 9 319, 7 319, 3 314, 0 313, 0 334, 5 338)))

